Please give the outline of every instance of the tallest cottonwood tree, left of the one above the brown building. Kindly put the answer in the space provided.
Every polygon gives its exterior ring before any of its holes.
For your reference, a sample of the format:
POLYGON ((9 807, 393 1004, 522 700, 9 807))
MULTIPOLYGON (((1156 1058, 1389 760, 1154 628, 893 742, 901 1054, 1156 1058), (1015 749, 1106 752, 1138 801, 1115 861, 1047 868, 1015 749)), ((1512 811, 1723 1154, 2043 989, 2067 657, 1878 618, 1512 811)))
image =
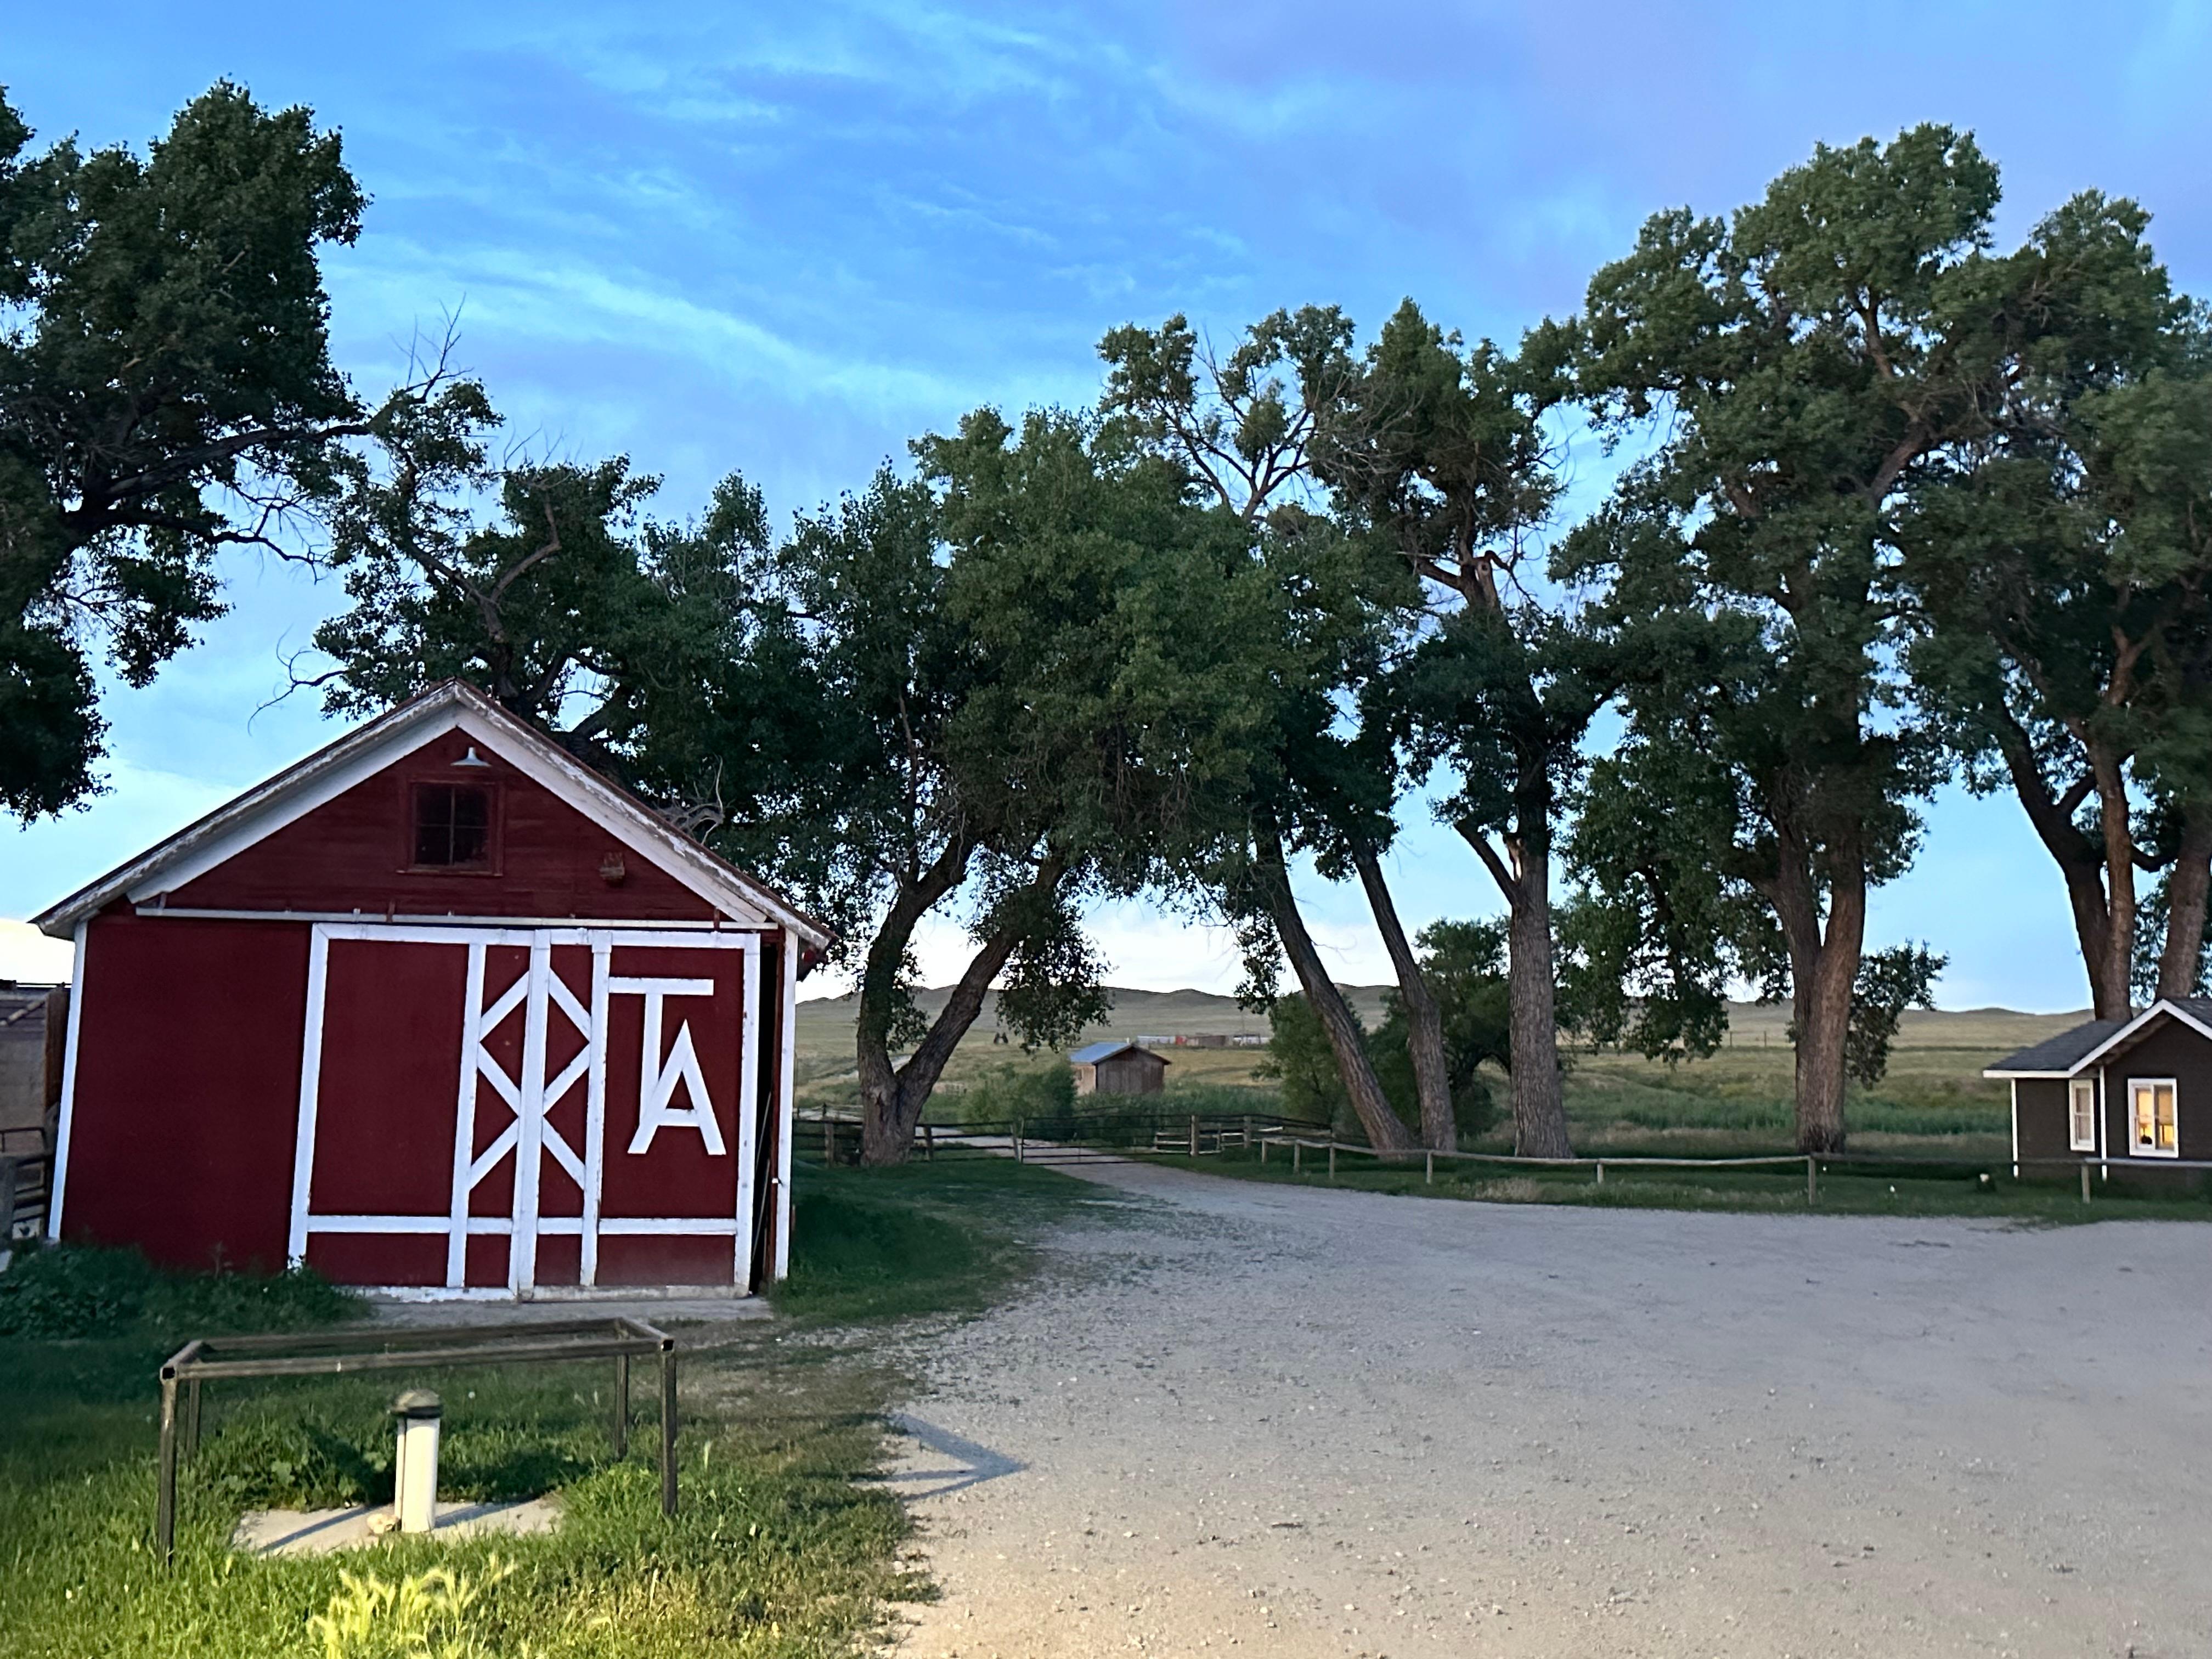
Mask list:
POLYGON ((1559 573, 1604 584, 1632 737, 1714 768, 1690 845, 1781 933, 1809 1152, 1845 1144, 1867 894, 1942 772, 1893 672, 1893 520, 2039 327, 1986 254, 1995 201, 1949 128, 1820 148, 1730 221, 1650 219, 1573 338, 1599 420, 1659 431, 1559 573))

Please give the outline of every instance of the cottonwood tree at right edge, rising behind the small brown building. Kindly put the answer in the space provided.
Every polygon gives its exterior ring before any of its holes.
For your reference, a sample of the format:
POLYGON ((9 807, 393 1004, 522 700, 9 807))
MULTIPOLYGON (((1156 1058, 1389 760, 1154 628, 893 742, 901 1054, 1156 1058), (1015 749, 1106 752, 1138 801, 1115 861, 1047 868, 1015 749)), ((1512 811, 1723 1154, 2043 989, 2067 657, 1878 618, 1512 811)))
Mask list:
POLYGON ((2057 863, 2099 1020, 2194 995, 2212 883, 2212 347, 2146 221, 2084 195, 2013 254, 2042 327, 1900 526, 1916 686, 2057 863))

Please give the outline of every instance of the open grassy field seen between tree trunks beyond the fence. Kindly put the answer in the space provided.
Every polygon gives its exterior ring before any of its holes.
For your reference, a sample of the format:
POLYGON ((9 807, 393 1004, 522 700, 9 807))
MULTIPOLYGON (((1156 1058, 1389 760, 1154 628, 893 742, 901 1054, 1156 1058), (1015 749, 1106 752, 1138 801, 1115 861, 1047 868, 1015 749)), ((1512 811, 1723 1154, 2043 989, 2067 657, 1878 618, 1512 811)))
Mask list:
MULTIPOLYGON (((925 993, 925 1006, 933 995, 925 993)), ((1378 1024, 1383 987, 1354 987, 1360 1018, 1378 1024)), ((847 1104, 854 1097, 852 998, 799 1004, 799 1082, 810 1104, 847 1104)), ((2086 1013, 2013 1013, 1975 1009, 1964 1013, 1905 1015, 1891 1051, 1889 1075, 1876 1091, 1854 1091, 1851 1133, 1863 1150, 1911 1150, 1916 1146, 1989 1157, 2008 1137, 2004 1084, 1982 1077, 1993 1060, 2066 1031, 2086 1013)), ((1732 1152, 1790 1144, 1787 1011, 1759 1004, 1730 1006, 1728 1046, 1710 1060, 1666 1066, 1639 1055, 1568 1055, 1568 1117, 1575 1144, 1588 1150, 1732 1152)), ((1232 998, 1203 991, 1115 991, 1115 1013, 1084 1033, 1097 1037, 1256 1033, 1267 1022, 1245 1013, 1232 998)), ((993 1011, 962 1040, 949 1088, 960 1088, 989 1066, 1040 1064, 1011 1044, 993 1042, 993 1011)), ((1190 1084, 1254 1084, 1256 1048, 1175 1048, 1168 1088, 1190 1084)), ((1500 1093, 1504 1077, 1493 1079, 1500 1093)), ((1493 1135, 1484 1146, 1502 1144, 1493 1135)))

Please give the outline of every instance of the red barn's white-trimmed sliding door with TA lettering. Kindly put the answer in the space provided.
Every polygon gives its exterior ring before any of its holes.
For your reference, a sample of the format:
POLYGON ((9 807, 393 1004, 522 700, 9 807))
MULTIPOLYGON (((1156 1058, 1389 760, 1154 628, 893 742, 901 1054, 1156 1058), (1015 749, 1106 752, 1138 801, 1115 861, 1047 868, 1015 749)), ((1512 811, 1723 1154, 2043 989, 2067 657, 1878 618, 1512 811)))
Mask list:
POLYGON ((752 933, 316 925, 292 1259, 323 1241, 349 1252, 354 1283, 526 1296, 599 1285, 608 1248, 624 1283, 661 1263, 699 1283, 701 1245, 721 1239, 717 1283, 743 1285, 757 1015, 752 933), (380 1026, 363 1004, 394 1013, 380 1026), (394 1197, 411 1203, 378 1203, 394 1197), (442 1270, 422 1256, 440 1234, 442 1270))

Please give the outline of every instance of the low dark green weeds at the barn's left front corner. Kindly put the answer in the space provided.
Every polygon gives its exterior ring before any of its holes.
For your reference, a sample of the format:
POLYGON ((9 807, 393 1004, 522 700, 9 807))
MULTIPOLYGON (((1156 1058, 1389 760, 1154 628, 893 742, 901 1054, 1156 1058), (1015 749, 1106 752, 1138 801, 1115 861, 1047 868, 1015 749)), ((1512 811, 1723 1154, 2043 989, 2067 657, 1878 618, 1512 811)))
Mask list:
POLYGON ((0 1336, 212 1336, 358 1318, 361 1301, 312 1267, 281 1274, 164 1272, 137 1250, 18 1250, 0 1274, 0 1336))

